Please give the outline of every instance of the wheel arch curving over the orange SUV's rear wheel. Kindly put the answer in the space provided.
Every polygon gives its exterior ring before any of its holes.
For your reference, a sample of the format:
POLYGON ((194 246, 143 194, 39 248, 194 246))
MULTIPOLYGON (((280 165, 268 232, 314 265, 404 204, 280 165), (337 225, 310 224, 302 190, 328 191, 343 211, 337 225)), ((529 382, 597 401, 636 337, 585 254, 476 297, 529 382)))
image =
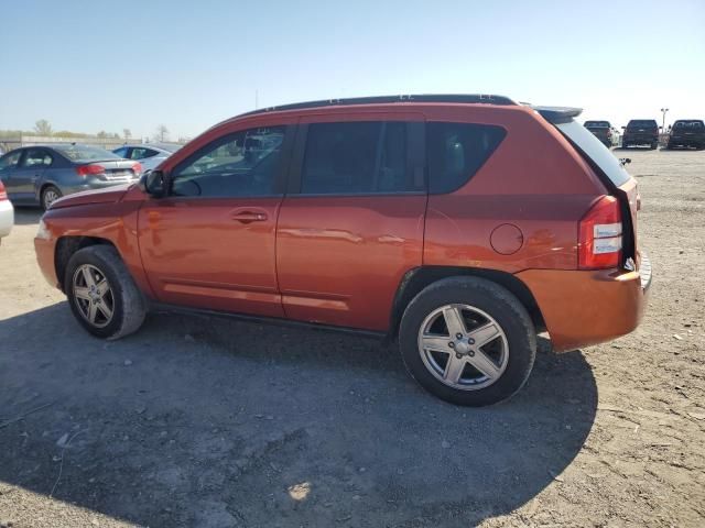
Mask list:
POLYGON ((462 266, 420 266, 409 270, 399 283, 390 315, 389 339, 397 338, 401 318, 409 302, 430 284, 448 277, 481 277, 505 287, 524 306, 536 330, 545 331, 545 321, 536 299, 529 287, 511 273, 462 266))

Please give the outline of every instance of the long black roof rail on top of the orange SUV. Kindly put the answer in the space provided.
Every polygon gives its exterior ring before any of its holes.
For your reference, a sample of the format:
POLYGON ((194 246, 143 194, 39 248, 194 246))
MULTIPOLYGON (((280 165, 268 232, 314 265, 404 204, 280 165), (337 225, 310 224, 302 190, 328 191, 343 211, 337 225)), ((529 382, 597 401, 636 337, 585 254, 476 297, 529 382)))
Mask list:
POLYGON ((517 105, 514 101, 503 96, 491 96, 484 94, 422 94, 422 95, 409 95, 409 96, 375 96, 375 97, 354 97, 348 99, 325 99, 321 101, 308 102, 295 102, 293 105, 282 105, 279 107, 261 108, 259 110, 252 110, 251 112, 241 113, 238 118, 245 116, 254 116, 258 113, 267 112, 280 112, 284 110, 303 110, 306 108, 324 108, 324 107, 339 107, 348 105, 384 105, 392 102, 452 102, 452 103, 465 103, 465 105, 517 105))

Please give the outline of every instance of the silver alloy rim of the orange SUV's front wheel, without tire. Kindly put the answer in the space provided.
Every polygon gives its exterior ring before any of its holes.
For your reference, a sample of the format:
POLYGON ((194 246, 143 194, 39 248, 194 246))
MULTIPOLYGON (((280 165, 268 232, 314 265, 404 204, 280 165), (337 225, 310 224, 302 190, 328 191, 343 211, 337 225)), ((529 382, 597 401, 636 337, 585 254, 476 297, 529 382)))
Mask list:
POLYGON ((105 274, 96 266, 84 264, 74 273, 76 307, 86 321, 96 328, 105 328, 112 320, 115 298, 105 274))

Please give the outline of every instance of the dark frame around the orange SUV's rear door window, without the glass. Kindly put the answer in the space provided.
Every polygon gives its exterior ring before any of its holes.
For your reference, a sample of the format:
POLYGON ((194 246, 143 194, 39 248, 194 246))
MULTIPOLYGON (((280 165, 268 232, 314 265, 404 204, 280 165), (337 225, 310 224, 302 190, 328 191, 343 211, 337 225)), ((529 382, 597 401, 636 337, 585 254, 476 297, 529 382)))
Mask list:
POLYGON ((360 119, 360 120, 346 120, 339 121, 315 121, 300 123, 296 130, 296 139, 293 147, 293 155, 291 158, 291 167, 289 170, 289 178, 286 183, 286 196, 306 197, 306 198, 341 198, 341 197, 377 197, 377 196, 424 196, 429 194, 429 178, 426 177, 425 166, 425 147, 412 148, 412 146, 425 145, 425 127, 423 121, 409 121, 400 117, 400 119, 360 119), (406 140, 406 177, 408 178, 423 178, 423 189, 421 190, 402 190, 402 191, 384 191, 384 193, 302 193, 303 186, 303 169, 306 157, 306 144, 308 139, 308 127, 312 124, 343 124, 343 123, 360 123, 360 122, 380 122, 380 123, 404 123, 405 140, 406 140), (416 176, 420 175, 420 176, 416 176))

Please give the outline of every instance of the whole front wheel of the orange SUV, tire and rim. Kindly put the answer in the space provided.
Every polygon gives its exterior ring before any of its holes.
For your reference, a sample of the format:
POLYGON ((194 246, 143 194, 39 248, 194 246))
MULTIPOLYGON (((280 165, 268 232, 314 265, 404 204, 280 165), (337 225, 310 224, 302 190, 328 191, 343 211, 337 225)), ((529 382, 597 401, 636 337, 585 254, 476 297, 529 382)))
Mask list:
POLYGON ((64 292, 74 317, 98 338, 119 339, 144 322, 144 297, 111 245, 90 245, 74 253, 66 266, 64 292))

